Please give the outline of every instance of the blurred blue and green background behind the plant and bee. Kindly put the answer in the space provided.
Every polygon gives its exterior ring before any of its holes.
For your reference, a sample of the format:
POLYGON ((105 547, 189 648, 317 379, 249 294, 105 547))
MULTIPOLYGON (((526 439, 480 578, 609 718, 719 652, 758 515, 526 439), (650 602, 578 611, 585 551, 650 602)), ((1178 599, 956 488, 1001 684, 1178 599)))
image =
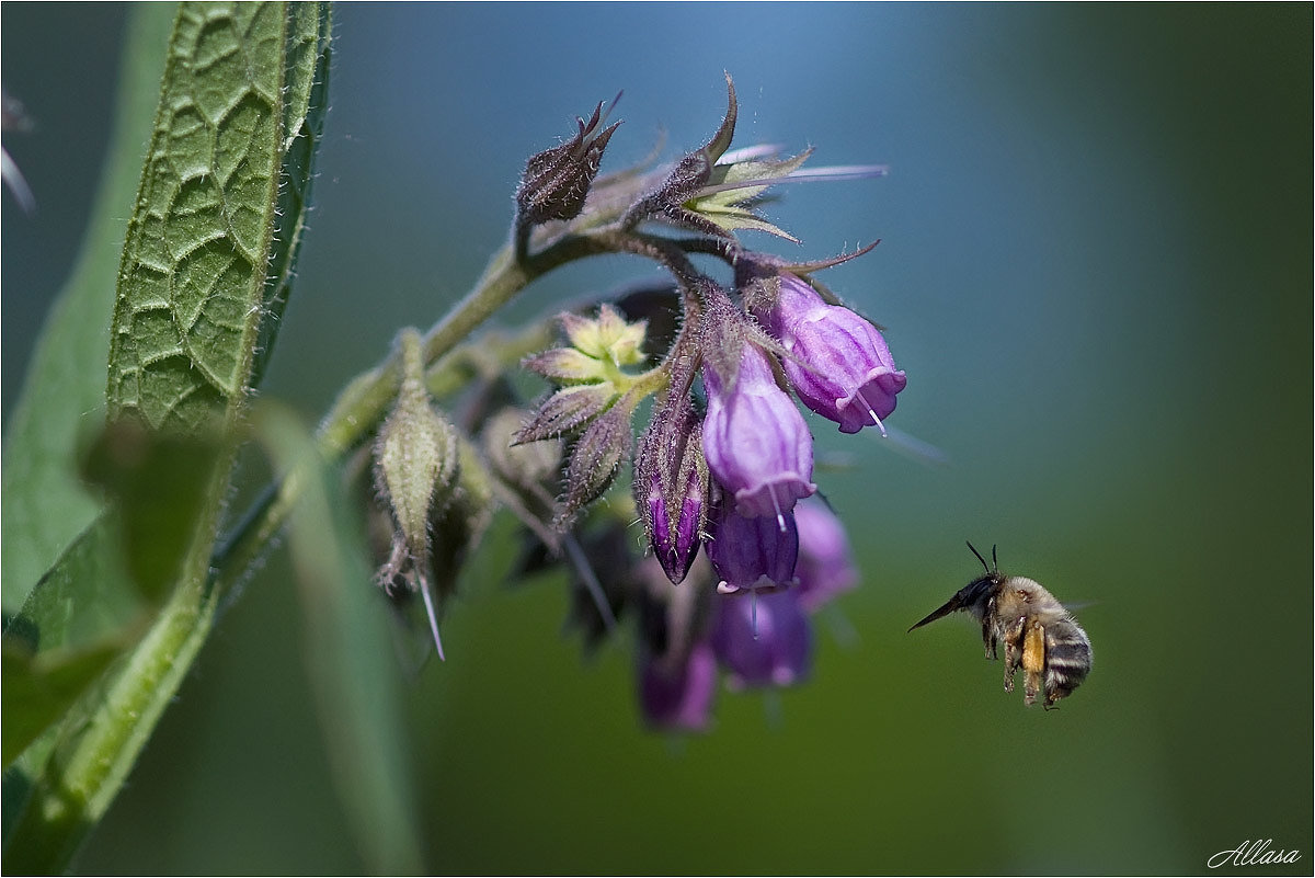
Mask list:
MULTIPOLYGON (((429 867, 454 873, 1197 873, 1312 843, 1311 8, 389 5, 335 11, 300 279, 264 392, 314 419, 505 241, 526 156, 618 89, 604 170, 704 142, 815 146, 889 177, 768 209, 889 327, 892 426, 945 467, 811 421, 846 472, 861 588, 814 678, 646 732, 629 627, 593 660, 560 580, 481 556, 409 683, 429 867), (1307 406, 1307 407, 1303 407, 1307 406), (1057 712, 1001 691, 977 631, 905 630, 999 545, 1085 602, 1095 666, 1057 712)), ((3 397, 87 220, 125 9, 5 4, 3 397)), ((143 131, 143 145, 146 133, 143 131)), ((124 210, 128 212, 125 205, 124 210)), ((609 258, 502 319, 654 277, 609 258)), ((95 833, 84 873, 362 869, 276 555, 224 618, 95 833)), ((401 673, 401 672, 398 672, 401 673)))

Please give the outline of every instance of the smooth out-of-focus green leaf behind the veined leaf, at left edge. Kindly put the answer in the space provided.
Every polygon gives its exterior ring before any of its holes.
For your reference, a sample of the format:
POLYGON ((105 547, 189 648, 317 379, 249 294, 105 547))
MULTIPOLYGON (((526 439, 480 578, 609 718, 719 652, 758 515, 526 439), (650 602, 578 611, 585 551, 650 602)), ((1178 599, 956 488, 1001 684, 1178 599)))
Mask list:
POLYGON ((128 209, 142 167, 174 24, 167 4, 129 11, 116 125, 87 238, 46 319, 5 436, 0 469, 0 582, 4 607, 22 605, 37 580, 100 513, 78 468, 79 434, 100 426, 105 405, 105 327, 128 209))

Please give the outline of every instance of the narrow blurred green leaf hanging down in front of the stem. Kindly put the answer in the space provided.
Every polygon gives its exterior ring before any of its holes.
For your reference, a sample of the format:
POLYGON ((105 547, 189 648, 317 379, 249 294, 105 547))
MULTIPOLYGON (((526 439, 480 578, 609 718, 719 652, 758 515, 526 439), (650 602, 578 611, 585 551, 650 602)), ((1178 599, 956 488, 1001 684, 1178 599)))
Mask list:
POLYGON ((306 668, 320 706, 334 782, 362 854, 379 874, 418 873, 416 820, 401 693, 384 598, 371 582, 364 528, 309 431, 262 402, 256 431, 276 468, 302 480, 289 548, 305 618, 306 668))

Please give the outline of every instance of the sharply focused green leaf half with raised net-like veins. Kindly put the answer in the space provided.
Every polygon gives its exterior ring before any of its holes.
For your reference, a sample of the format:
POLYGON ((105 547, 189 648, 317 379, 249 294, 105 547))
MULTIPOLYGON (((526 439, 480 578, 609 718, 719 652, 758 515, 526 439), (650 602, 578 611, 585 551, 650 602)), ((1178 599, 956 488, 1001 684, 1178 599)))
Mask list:
POLYGON ((128 226, 109 417, 193 430, 251 375, 283 156, 287 14, 183 4, 128 226))

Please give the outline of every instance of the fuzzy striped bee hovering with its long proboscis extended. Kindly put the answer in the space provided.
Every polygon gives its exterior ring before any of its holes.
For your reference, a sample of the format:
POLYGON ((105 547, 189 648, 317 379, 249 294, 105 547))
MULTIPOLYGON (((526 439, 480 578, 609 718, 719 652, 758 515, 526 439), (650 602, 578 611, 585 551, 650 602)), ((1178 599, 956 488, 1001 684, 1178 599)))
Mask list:
POLYGON ((982 626, 988 658, 997 658, 997 643, 1005 643, 1005 691, 1014 691, 1014 673, 1022 668, 1023 701, 1031 705, 1044 691, 1041 706, 1049 708, 1072 694, 1091 672, 1091 641, 1064 605, 1039 582, 1001 573, 994 545, 990 566, 972 543, 968 548, 982 563, 986 576, 959 589, 944 606, 913 628, 955 610, 967 610, 982 626))

